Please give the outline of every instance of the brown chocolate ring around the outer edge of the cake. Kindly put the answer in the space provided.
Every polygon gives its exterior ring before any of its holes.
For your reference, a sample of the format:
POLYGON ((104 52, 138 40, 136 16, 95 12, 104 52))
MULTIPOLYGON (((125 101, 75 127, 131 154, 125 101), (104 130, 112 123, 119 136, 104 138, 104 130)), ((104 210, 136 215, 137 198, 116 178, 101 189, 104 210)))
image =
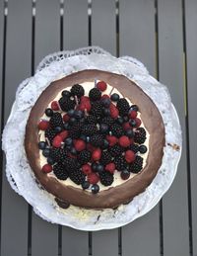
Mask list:
POLYGON ((27 123, 25 148, 36 179, 46 191, 60 199, 60 201, 90 209, 116 208, 121 204, 127 204, 136 195, 142 193, 156 176, 162 164, 164 154, 164 122, 154 102, 133 81, 123 75, 110 72, 83 70, 52 82, 41 93, 33 106, 27 123), (129 98, 132 103, 138 105, 141 119, 145 128, 150 133, 150 140, 147 163, 140 173, 121 185, 100 191, 94 195, 79 188, 66 186, 55 177, 41 171, 39 149, 37 147, 37 124, 43 116, 46 107, 58 92, 76 83, 93 82, 96 78, 117 88, 122 95, 129 98))

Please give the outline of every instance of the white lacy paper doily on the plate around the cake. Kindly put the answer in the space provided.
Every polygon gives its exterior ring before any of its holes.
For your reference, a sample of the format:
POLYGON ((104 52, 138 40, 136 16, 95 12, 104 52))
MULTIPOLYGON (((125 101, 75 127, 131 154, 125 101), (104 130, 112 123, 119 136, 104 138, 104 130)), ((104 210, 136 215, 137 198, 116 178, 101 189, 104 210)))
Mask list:
POLYGON ((19 86, 4 128, 3 150, 7 159, 6 175, 11 187, 33 206, 35 213, 50 222, 82 230, 99 230, 131 222, 158 204, 177 170, 181 154, 181 129, 166 87, 150 76, 140 61, 129 56, 116 58, 93 46, 46 56, 34 76, 19 86), (84 69, 106 70, 132 79, 153 99, 164 119, 166 145, 163 164, 156 178, 144 193, 116 210, 94 211, 73 206, 67 210, 59 208, 54 197, 35 182, 25 154, 25 128, 38 96, 52 81, 84 69), (179 150, 175 145, 179 146, 179 150))

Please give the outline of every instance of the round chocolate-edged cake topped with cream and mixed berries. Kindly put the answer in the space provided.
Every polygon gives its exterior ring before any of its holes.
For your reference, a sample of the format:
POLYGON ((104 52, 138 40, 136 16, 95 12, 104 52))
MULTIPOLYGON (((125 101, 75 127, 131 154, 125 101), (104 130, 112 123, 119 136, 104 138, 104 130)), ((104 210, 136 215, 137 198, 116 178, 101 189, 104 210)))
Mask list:
POLYGON ((164 122, 133 81, 84 70, 52 82, 39 96, 25 149, 37 182, 59 206, 114 209, 156 176, 164 122))

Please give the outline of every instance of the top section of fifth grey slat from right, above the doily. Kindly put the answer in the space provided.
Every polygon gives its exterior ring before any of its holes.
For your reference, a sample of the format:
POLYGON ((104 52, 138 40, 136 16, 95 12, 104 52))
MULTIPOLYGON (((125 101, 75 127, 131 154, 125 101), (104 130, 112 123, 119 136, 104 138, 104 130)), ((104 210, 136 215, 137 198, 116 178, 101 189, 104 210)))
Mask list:
POLYGON ((64 1, 64 49, 88 45, 88 1, 64 1))

